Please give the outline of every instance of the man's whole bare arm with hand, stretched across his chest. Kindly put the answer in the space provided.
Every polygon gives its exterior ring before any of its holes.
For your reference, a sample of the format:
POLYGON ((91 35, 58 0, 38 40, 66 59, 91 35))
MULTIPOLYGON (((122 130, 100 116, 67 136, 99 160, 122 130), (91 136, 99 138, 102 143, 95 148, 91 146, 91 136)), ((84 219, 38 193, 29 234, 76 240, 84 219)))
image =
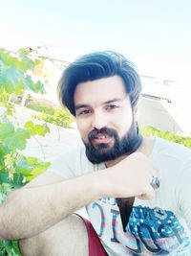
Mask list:
POLYGON ((155 173, 147 157, 134 153, 114 167, 69 180, 41 175, 12 192, 0 206, 0 239, 32 237, 105 196, 128 198, 144 194, 145 198, 152 198, 150 182, 155 173))

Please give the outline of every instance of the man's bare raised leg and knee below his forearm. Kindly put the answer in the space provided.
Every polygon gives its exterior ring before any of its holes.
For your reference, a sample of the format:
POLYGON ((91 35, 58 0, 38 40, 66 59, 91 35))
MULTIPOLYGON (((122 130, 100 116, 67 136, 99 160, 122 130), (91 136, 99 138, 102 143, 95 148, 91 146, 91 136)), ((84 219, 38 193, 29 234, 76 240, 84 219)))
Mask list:
POLYGON ((84 222, 69 216, 39 235, 20 241, 24 256, 88 256, 88 235, 84 222))

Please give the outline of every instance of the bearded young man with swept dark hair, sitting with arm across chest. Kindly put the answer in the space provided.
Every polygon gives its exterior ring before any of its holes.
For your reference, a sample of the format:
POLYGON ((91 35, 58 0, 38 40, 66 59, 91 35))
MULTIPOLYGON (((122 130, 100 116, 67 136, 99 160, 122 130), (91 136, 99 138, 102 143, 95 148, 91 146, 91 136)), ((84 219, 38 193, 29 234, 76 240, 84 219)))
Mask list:
POLYGON ((1 239, 21 239, 24 255, 191 255, 191 151, 141 136, 140 90, 117 53, 68 66, 59 95, 85 147, 7 198, 1 239), (82 206, 90 221, 72 214, 82 206))

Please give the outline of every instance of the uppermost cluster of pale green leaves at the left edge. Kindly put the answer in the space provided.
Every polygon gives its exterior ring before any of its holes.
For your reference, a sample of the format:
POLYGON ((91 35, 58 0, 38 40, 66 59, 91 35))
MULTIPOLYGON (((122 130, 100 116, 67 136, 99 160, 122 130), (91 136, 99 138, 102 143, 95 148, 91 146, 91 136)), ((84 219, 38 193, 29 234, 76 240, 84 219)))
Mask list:
POLYGON ((11 53, 0 48, 0 92, 19 94, 24 89, 44 93, 41 81, 32 81, 32 70, 42 59, 35 56, 31 48, 20 49, 11 53))

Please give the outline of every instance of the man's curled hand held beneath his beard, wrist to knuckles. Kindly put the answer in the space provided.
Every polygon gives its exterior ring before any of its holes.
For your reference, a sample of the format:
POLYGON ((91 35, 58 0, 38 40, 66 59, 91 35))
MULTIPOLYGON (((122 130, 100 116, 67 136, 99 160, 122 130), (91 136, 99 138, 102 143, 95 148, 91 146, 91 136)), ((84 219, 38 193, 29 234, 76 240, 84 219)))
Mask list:
POLYGON ((134 152, 106 170, 108 192, 113 198, 154 198, 156 191, 151 181, 157 173, 148 156, 134 152))

